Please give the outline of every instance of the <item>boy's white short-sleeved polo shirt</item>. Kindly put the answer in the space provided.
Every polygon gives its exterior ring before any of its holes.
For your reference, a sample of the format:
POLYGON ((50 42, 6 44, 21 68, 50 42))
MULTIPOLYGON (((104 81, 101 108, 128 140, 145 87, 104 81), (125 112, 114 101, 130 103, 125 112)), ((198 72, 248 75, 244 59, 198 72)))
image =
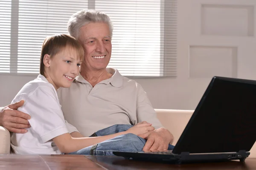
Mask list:
POLYGON ((64 120, 57 92, 43 75, 25 84, 12 103, 24 100, 18 110, 31 116, 28 132, 12 133, 11 146, 18 154, 61 154, 52 138, 78 131, 64 120))

